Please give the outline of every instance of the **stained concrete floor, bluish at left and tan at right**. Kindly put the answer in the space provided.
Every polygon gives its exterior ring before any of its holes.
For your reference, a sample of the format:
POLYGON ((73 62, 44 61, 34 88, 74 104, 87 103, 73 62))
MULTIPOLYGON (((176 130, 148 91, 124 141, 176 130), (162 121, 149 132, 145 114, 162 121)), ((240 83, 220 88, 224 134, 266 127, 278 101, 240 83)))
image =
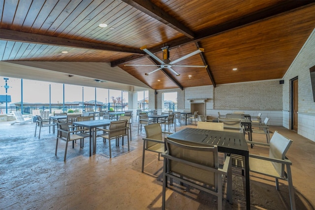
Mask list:
MULTIPOLYGON (((56 134, 43 128, 41 138, 34 137, 35 124, 10 125, 0 122, 0 209, 5 210, 155 210, 161 208, 162 165, 155 153, 146 153, 145 173, 141 173, 142 138, 138 124, 132 125, 130 151, 127 146, 112 144, 109 158, 108 141, 97 140, 96 154, 89 157, 89 142, 68 147, 63 162, 64 142, 59 142, 55 156, 56 134)), ((179 125, 179 124, 178 124, 179 125)), ((195 125, 189 125, 195 127, 195 125)), ((176 130, 186 126, 177 127, 176 130)), ((315 208, 315 142, 284 127, 271 126, 271 131, 293 140, 287 152, 292 161, 296 208, 315 208)), ((253 140, 265 142, 264 135, 253 134, 253 140)), ((255 146, 250 153, 265 155, 268 149, 255 146)), ((233 168, 233 205, 223 200, 223 209, 245 209, 245 179, 233 168)), ((251 174, 251 208, 289 209, 287 183, 251 174)), ((217 209, 217 197, 175 182, 166 191, 166 209, 217 209)))

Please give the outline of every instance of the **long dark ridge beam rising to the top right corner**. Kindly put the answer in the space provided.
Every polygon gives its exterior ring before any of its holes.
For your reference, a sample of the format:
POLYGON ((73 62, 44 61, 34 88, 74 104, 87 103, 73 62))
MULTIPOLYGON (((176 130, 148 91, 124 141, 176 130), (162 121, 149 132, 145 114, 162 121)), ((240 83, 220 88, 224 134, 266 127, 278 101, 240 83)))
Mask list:
MULTIPOLYGON (((270 6, 266 9, 259 10, 252 14, 240 17, 228 23, 224 23, 215 27, 201 30, 195 33, 195 38, 181 37, 172 41, 168 41, 167 45, 170 49, 179 47, 181 45, 201 41, 211 36, 219 35, 224 32, 235 30, 241 27, 249 26, 251 24, 259 23, 267 19, 273 18, 277 15, 303 9, 305 6, 312 6, 315 4, 314 0, 300 0, 300 1, 280 1, 280 3, 270 6)), ((161 50, 160 46, 149 49, 152 53, 157 53, 161 50)), ((146 57, 148 55, 144 55, 146 57)), ((120 64, 132 61, 132 57, 128 56, 124 59, 116 60, 111 62, 111 66, 115 67, 120 64)))

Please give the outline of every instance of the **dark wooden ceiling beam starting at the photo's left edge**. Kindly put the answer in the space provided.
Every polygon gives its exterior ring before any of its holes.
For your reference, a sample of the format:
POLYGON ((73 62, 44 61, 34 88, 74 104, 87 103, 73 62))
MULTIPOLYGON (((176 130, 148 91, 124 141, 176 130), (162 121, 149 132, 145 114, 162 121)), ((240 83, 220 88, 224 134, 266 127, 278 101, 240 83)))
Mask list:
MULTIPOLYGON (((21 41, 36 44, 58 45, 64 47, 76 47, 91 50, 107 50, 115 52, 126 52, 133 54, 143 55, 140 49, 134 49, 129 47, 119 47, 108 44, 94 43, 88 41, 74 40, 68 38, 60 38, 56 36, 38 35, 25 32, 12 31, 7 29, 0 29, 0 39, 7 41, 21 41)), ((133 55, 134 56, 134 55, 133 55)))

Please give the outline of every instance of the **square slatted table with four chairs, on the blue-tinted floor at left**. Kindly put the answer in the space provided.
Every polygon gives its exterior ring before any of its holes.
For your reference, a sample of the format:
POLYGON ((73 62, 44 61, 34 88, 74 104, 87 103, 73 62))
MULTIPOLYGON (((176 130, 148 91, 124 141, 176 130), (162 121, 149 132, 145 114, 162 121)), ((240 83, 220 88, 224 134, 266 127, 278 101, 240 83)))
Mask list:
POLYGON ((96 153, 96 128, 109 126, 112 120, 103 119, 103 120, 89 120, 89 121, 79 121, 73 122, 73 125, 88 128, 90 132, 90 157, 96 153))

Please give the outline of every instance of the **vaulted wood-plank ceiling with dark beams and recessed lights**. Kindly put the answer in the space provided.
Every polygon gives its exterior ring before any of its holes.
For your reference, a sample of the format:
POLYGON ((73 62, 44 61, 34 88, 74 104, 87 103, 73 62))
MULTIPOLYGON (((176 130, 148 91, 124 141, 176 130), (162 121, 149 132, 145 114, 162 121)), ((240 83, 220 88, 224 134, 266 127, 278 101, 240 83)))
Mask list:
POLYGON ((156 90, 281 79, 315 28, 315 0, 0 0, 0 10, 0 61, 106 62, 156 90), (144 45, 160 59, 169 46, 173 61, 204 48, 177 64, 208 67, 124 66, 155 63, 144 45))

